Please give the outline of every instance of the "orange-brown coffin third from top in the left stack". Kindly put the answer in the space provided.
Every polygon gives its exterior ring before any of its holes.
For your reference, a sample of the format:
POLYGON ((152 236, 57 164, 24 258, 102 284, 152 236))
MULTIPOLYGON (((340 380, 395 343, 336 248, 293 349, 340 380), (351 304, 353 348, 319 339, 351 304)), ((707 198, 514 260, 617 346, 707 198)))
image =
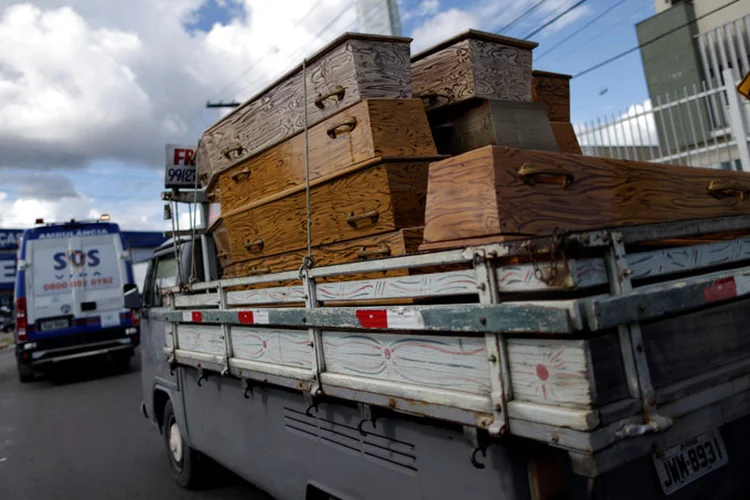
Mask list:
MULTIPOLYGON (((375 160, 310 189, 312 245, 424 225, 429 159, 375 160)), ((304 186, 225 214, 236 261, 307 246, 304 186)))

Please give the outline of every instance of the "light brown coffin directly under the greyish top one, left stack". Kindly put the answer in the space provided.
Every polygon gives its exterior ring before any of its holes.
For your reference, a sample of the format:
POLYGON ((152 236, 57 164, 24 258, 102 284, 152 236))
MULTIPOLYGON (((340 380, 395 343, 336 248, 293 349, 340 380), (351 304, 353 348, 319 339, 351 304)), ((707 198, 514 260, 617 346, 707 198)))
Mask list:
MULTIPOLYGON (((380 156, 435 155, 419 99, 367 99, 308 132, 310 179, 380 156)), ((298 134, 220 175, 221 205, 230 212, 305 183, 305 135, 298 134)))

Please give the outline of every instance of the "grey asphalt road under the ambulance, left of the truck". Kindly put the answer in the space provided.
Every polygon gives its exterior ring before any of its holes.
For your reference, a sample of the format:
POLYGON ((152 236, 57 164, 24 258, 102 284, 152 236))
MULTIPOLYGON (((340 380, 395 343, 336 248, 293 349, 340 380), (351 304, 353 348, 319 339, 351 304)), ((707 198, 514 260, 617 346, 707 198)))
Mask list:
POLYGON ((185 491, 170 476, 159 431, 140 413, 138 358, 126 374, 106 364, 30 384, 0 350, 2 500, 267 499, 238 478, 185 491))

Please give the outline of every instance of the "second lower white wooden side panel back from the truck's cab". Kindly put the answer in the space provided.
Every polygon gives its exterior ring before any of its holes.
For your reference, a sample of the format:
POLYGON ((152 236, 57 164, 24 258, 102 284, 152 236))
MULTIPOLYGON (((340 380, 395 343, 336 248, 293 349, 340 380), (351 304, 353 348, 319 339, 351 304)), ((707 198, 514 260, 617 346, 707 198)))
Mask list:
POLYGON ((235 358, 312 368, 313 350, 307 331, 233 326, 230 335, 235 358))

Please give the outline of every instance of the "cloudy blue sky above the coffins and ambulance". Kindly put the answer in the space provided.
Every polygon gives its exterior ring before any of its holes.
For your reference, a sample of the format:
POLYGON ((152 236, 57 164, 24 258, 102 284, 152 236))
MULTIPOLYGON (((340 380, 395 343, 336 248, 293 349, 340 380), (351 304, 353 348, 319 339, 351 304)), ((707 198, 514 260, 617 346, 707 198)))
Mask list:
MULTIPOLYGON (((165 144, 194 144, 219 118, 207 100, 244 101, 357 30, 355 3, 0 0, 0 227, 109 213, 165 228, 165 144)), ((417 51, 467 28, 497 32, 537 3, 401 0, 403 34, 417 51)), ((524 37, 575 3, 544 0, 503 34, 524 37)), ((585 69, 637 45, 634 23, 653 12, 653 0, 588 0, 533 37, 534 66, 585 69)), ((574 79, 574 121, 642 102, 640 64, 636 53, 574 79)))

